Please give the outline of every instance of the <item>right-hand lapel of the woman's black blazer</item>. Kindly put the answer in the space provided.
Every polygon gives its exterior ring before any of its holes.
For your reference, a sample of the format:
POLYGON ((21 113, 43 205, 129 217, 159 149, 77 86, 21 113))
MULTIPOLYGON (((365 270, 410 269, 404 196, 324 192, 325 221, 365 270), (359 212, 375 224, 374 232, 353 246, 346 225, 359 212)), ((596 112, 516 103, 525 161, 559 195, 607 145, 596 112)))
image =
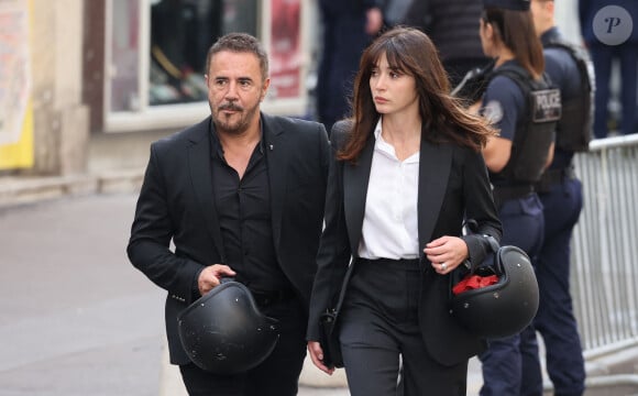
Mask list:
MULTIPOLYGON (((432 144, 421 139, 419 158, 419 246, 425 248, 432 237, 436 221, 443 204, 448 178, 452 166, 452 148, 449 144, 432 144)), ((422 248, 419 255, 422 256, 422 248)))

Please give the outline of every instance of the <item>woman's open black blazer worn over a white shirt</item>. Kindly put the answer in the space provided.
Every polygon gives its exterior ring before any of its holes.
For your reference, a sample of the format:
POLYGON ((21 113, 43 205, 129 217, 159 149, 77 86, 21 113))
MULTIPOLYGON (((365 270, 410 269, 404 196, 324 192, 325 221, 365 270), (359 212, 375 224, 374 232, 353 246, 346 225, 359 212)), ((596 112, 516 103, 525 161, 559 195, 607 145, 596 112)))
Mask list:
MULTIPOLYGON (((332 147, 344 141, 343 122, 332 130, 332 147)), ((318 270, 310 301, 308 340, 319 340, 319 317, 348 282, 356 263, 375 139, 371 133, 356 165, 334 160, 328 176, 326 229, 317 256, 318 270), (352 258, 352 260, 351 260, 352 258), (349 265, 350 263, 352 265, 349 265)), ((481 153, 454 144, 421 139, 418 188, 419 246, 443 235, 462 234, 464 216, 479 232, 462 237, 470 258, 481 263, 490 251, 490 234, 501 240, 502 227, 481 153)), ((453 365, 481 352, 485 342, 461 328, 449 314, 450 275, 441 276, 419 252, 426 271, 419 300, 419 322, 426 348, 441 364, 453 365)), ((348 298, 348 294, 345 294, 348 298)))

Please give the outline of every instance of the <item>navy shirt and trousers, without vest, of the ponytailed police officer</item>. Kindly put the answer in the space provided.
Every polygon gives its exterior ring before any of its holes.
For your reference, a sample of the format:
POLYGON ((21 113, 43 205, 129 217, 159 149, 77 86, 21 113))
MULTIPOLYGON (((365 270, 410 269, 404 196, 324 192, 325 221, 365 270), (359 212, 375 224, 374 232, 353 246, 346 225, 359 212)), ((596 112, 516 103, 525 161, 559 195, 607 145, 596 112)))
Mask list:
MULTIPOLYGON (((516 64, 516 61, 509 61, 501 67, 516 64)), ((482 111, 501 130, 501 138, 514 141, 519 132, 519 120, 526 112, 524 94, 509 77, 496 76, 487 86, 482 111)), ((544 218, 542 204, 534 193, 532 185, 517 184, 516 180, 493 173, 490 174, 490 179, 503 223, 501 244, 518 246, 530 257, 535 257, 542 245, 544 218)), ((542 394, 542 375, 536 369, 540 364, 538 343, 532 326, 520 334, 490 340, 490 349, 479 358, 483 363, 482 396, 518 395, 518 389, 522 386, 529 389, 531 385, 539 384, 539 392, 530 395, 542 394), (526 377, 522 377, 524 374, 526 377)))

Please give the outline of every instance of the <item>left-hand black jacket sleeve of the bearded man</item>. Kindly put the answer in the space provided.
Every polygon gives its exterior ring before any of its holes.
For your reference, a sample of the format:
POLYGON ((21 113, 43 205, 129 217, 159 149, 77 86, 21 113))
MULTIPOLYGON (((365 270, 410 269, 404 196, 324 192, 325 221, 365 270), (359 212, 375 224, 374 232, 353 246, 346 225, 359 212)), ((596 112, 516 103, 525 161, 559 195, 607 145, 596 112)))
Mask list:
POLYGON ((175 233, 157 145, 140 190, 127 253, 131 263, 174 298, 189 304, 202 264, 176 256, 169 249, 175 233))

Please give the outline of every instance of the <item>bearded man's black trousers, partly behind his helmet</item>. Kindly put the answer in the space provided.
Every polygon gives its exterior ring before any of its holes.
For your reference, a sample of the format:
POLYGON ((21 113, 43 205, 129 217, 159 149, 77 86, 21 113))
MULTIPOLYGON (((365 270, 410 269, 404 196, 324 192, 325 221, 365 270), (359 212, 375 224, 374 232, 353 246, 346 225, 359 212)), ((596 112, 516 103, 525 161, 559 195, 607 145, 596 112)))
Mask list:
POLYGON ((179 366, 190 396, 294 396, 306 358, 308 318, 296 299, 260 307, 279 320, 280 337, 273 353, 255 369, 237 375, 216 375, 195 364, 179 366))

